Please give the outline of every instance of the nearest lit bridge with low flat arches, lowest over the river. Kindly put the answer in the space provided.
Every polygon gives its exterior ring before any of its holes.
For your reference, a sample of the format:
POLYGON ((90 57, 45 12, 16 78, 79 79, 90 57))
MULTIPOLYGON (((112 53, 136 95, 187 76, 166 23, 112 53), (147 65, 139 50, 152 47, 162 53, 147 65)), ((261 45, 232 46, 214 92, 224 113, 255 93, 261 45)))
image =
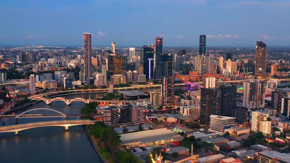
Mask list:
POLYGON ((28 130, 38 127, 49 127, 49 126, 60 126, 64 127, 65 130, 68 130, 70 126, 77 125, 93 125, 97 120, 59 120, 59 121, 45 121, 45 122, 33 122, 19 125, 10 125, 10 126, 1 126, 0 133, 9 133, 14 132, 15 135, 18 135, 19 131, 28 130))

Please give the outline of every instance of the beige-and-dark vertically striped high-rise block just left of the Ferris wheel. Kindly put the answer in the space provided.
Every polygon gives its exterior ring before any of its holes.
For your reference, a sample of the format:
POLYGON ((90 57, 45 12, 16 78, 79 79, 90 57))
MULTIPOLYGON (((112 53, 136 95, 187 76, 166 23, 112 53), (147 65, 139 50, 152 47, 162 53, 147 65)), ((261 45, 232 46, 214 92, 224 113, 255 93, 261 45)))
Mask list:
POLYGON ((259 109, 265 107, 265 82, 245 81, 243 90, 243 107, 259 109))

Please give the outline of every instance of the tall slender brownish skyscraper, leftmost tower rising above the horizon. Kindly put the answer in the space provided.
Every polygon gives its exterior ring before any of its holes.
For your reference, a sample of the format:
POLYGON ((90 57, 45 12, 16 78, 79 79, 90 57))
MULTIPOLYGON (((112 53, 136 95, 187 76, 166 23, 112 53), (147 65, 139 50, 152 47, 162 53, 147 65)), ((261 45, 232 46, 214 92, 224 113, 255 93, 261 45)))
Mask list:
POLYGON ((91 76, 91 34, 84 33, 84 76, 85 81, 89 84, 91 76))

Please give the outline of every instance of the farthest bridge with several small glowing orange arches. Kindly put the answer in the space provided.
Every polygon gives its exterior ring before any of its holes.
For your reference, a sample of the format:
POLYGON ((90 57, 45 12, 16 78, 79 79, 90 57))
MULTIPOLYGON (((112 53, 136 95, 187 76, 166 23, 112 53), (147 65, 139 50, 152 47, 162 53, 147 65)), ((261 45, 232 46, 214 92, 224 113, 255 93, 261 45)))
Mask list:
POLYGON ((44 98, 41 96, 36 96, 31 98, 30 100, 41 100, 46 103, 46 105, 51 104, 53 101, 63 101, 66 105, 70 105, 74 101, 82 101, 86 104, 90 102, 97 102, 98 104, 126 104, 130 103, 130 101, 117 101, 117 100, 90 100, 90 99, 83 99, 83 98, 75 98, 75 99, 65 99, 62 97, 56 97, 56 98, 44 98))

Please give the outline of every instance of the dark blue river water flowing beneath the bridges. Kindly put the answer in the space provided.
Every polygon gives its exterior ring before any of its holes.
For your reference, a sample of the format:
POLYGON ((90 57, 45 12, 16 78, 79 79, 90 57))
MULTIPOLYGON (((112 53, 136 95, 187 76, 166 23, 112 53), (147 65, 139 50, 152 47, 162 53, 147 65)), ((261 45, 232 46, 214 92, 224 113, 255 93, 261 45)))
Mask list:
MULTIPOLYGON (((82 97, 95 99, 104 94, 68 95, 64 98, 82 97)), ((84 106, 83 102, 73 102, 66 106, 64 102, 56 101, 51 105, 40 102, 24 110, 17 110, 10 114, 20 114, 25 110, 35 108, 55 109, 64 114, 77 114, 84 106)), ((35 110, 29 114, 57 114, 49 110, 35 110)), ((69 119, 76 119, 70 117, 69 119)), ((54 118, 19 118, 19 123, 38 121, 63 120, 54 118)), ((0 120, 2 121, 2 120, 0 120)), ((14 118, 4 118, 5 125, 13 125, 14 118)), ((2 124, 0 124, 2 125, 2 124)), ((43 127, 14 133, 0 133, 0 162, 1 163, 101 163, 96 152, 87 138, 83 126, 71 126, 69 131, 63 127, 43 127)))

